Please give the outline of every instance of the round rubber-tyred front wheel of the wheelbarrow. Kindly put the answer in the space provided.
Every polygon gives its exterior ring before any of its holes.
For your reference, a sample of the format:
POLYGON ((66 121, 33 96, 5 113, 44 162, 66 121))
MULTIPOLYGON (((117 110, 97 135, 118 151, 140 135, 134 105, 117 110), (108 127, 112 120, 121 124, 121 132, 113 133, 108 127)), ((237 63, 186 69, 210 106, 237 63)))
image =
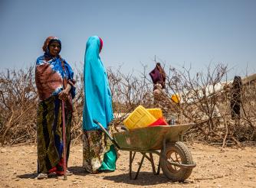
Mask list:
MULTIPOLYGON (((166 151, 161 151, 161 154, 167 157, 167 160, 179 164, 193 164, 192 154, 189 148, 181 141, 170 142, 166 144, 166 151)), ((162 173, 172 181, 184 181, 189 178, 192 173, 192 168, 177 167, 160 158, 162 173)))

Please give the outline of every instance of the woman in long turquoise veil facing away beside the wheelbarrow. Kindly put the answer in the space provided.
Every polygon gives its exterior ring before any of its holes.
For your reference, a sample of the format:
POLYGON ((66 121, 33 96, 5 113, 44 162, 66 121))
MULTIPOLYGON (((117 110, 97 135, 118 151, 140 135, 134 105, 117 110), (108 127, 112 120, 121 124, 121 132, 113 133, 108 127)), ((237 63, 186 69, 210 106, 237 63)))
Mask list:
POLYGON ((112 96, 107 73, 100 60, 103 41, 92 36, 84 57, 83 167, 89 173, 116 169, 117 151, 94 120, 110 131, 112 96))

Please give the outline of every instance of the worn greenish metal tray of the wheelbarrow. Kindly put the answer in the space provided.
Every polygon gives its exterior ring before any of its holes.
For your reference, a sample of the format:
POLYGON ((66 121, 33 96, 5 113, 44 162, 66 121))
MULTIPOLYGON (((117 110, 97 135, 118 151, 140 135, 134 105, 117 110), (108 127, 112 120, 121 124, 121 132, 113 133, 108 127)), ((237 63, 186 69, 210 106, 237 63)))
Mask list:
POLYGON ((185 134, 193 124, 182 125, 158 125, 146 128, 135 128, 130 131, 113 134, 114 140, 120 149, 133 150, 161 150, 162 141, 179 141, 179 137, 185 134))

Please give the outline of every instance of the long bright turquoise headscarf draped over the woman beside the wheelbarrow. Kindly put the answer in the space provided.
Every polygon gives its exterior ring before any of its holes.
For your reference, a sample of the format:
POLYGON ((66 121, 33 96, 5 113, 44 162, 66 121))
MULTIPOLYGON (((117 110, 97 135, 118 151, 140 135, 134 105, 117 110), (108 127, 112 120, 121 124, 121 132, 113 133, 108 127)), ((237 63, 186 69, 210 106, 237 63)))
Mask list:
POLYGON ((93 120, 104 128, 113 119, 112 97, 107 73, 100 60, 100 37, 89 37, 84 57, 84 111, 83 129, 100 129, 93 120))

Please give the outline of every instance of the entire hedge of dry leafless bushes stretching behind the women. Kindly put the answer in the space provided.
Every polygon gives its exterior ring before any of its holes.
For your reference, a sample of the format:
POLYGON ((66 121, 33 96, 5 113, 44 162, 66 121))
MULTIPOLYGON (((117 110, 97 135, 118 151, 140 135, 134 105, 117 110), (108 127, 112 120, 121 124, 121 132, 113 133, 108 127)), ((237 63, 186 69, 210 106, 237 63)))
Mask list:
MULTIPOLYGON (((82 67, 82 66, 80 66, 82 67)), ((210 64, 205 72, 192 76, 190 69, 167 71, 166 91, 153 96, 153 83, 146 66, 139 76, 109 69, 108 77, 113 95, 113 111, 117 128, 137 105, 146 108, 161 107, 167 121, 173 116, 176 122, 194 122, 195 126, 185 135, 186 139, 198 139, 225 146, 241 141, 256 141, 255 136, 255 80, 243 79, 241 119, 231 119, 230 89, 227 67, 210 64), (182 101, 172 102, 172 94, 179 94, 182 101), (158 101, 158 102, 156 102, 158 101)), ((74 143, 82 135, 84 105, 83 71, 76 72, 76 92, 71 136, 74 143)), ((249 78, 249 79, 248 79, 249 78)), ((17 144, 36 141, 36 112, 38 96, 34 83, 34 67, 28 70, 7 70, 0 73, 0 141, 1 144, 17 144)))

